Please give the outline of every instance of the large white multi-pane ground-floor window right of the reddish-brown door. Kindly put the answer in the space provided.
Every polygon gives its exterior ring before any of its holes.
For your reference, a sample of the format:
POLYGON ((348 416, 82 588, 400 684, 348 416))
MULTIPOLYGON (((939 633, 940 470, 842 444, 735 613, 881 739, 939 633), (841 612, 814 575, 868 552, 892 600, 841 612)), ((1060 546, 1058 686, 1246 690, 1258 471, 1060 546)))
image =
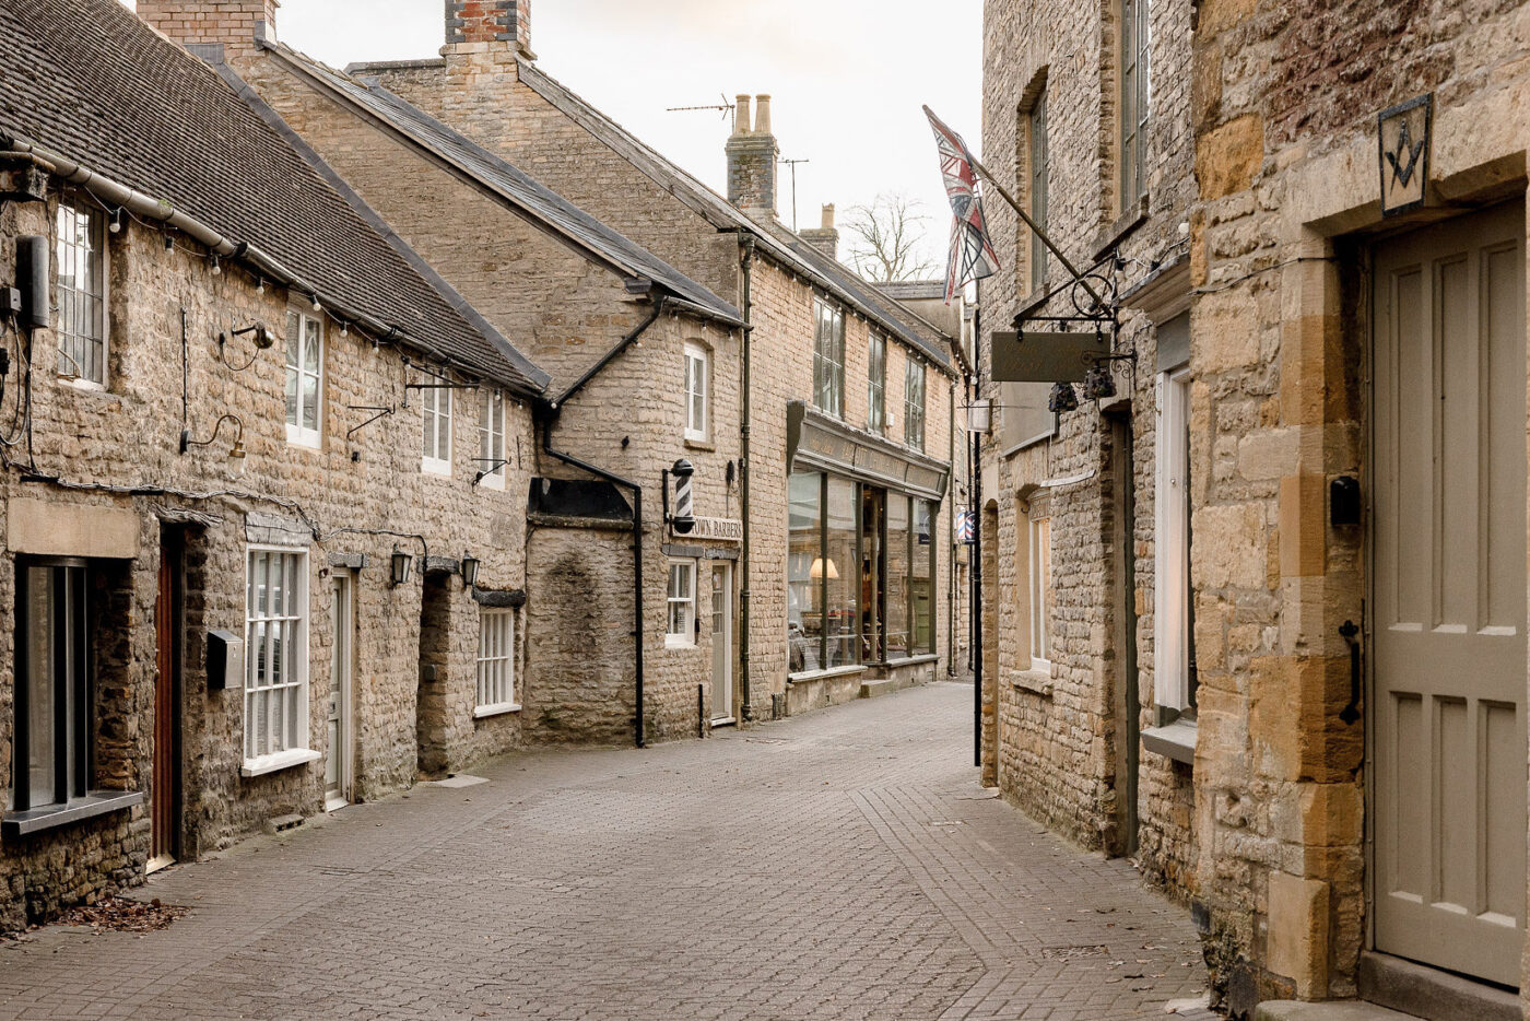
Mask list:
POLYGON ((308 747, 308 553, 249 546, 240 773, 260 776, 318 758, 308 747))

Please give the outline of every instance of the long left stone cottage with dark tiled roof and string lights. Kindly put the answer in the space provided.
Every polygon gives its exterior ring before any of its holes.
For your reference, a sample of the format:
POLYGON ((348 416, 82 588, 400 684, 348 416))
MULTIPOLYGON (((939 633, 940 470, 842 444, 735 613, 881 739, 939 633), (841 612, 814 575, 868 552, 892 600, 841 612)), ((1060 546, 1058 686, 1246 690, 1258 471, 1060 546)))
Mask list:
POLYGON ((516 741, 532 465, 479 458, 549 377, 226 66, 115 0, 0 35, 15 928, 516 741))

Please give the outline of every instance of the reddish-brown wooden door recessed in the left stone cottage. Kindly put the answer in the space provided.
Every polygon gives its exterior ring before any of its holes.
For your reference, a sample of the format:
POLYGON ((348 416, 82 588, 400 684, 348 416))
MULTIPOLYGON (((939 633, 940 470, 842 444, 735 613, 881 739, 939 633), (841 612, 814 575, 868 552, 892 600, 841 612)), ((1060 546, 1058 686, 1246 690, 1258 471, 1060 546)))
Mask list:
POLYGON ((181 548, 168 533, 159 545, 159 591, 155 599, 155 749, 153 776, 148 784, 150 850, 148 871, 176 860, 176 842, 181 820, 177 799, 181 791, 176 768, 176 690, 181 666, 179 621, 179 569, 181 548))

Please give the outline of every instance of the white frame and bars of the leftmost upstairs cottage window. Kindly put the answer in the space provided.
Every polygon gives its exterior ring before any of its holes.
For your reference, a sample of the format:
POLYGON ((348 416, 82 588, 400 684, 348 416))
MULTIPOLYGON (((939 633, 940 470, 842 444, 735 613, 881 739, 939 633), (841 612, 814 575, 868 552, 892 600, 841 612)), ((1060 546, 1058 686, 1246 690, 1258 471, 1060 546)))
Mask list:
MULTIPOLYGON (((55 271, 55 291, 54 295, 58 302, 58 320, 55 338, 58 341, 58 375, 69 380, 72 384, 90 389, 104 390, 107 373, 107 354, 110 352, 110 334, 112 334, 112 315, 109 298, 109 269, 110 269, 110 253, 107 245, 106 233, 106 214, 99 208, 90 208, 83 202, 73 199, 61 199, 58 202, 58 213, 54 217, 54 271, 55 271), (78 245, 73 240, 66 240, 64 237, 64 222, 73 217, 75 223, 84 220, 84 245, 78 245), (78 268, 81 262, 87 265, 87 276, 84 286, 69 286, 64 283, 66 263, 75 269, 69 274, 70 280, 80 280, 78 268), (99 283, 99 294, 90 289, 90 272, 93 269, 95 280, 99 283), (86 329, 70 331, 67 326, 73 323, 78 326, 84 321, 86 329), (99 321, 99 337, 95 323, 99 321), (95 375, 90 373, 90 367, 81 363, 84 358, 84 349, 87 346, 101 344, 99 364, 95 366, 98 370, 95 375), (83 372, 81 372, 83 370, 83 372)), ((78 228, 76 228, 78 237, 78 228)))

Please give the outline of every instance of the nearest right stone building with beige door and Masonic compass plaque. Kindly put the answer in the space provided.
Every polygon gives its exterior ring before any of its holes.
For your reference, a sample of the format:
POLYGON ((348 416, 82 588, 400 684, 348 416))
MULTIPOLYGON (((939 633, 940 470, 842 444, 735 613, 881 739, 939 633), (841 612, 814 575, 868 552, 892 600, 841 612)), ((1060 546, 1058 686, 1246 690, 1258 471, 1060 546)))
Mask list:
POLYGON ((1213 964, 1238 1012, 1359 992, 1521 1016, 1530 6, 1198 18, 1213 964))

